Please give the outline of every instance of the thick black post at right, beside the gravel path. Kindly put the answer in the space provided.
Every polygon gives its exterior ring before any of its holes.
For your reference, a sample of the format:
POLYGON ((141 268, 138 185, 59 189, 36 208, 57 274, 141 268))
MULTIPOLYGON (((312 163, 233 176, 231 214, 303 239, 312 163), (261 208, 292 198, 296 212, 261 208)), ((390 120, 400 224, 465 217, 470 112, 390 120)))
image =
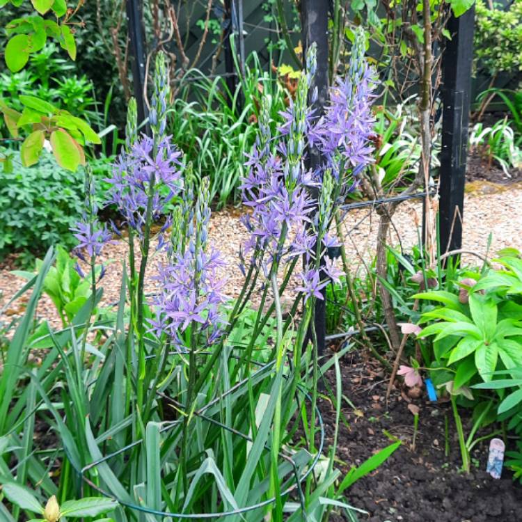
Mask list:
POLYGON ((462 245, 475 8, 448 22, 443 54, 443 124, 439 229, 441 251, 462 245))

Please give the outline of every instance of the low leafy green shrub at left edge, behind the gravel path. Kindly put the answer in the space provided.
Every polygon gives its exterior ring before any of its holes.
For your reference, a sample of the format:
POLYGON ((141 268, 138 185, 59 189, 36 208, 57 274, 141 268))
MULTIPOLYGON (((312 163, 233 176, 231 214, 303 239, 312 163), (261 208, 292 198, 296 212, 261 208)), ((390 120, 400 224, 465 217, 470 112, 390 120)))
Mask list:
POLYGON ((41 253, 49 246, 72 244, 70 226, 81 216, 84 176, 59 168, 45 153, 38 166, 0 176, 0 257, 13 251, 41 253))

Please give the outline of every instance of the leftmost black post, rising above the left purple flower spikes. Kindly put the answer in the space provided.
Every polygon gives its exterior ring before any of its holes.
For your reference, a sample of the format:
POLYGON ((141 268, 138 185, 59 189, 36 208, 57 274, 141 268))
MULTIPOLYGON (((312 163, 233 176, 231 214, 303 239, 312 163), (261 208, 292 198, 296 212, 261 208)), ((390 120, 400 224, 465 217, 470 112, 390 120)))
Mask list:
POLYGON ((127 22, 129 24, 129 41, 132 57, 132 83, 134 97, 138 108, 138 123, 147 116, 143 90, 145 88, 145 38, 143 31, 143 15, 140 0, 127 0, 127 22))

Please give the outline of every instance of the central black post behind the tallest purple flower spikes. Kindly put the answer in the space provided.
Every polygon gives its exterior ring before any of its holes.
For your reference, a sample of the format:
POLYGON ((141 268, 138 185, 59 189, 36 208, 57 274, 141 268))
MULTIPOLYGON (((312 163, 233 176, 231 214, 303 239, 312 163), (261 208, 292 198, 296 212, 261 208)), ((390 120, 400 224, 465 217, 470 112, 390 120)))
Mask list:
MULTIPOLYGON (((308 47, 313 42, 317 45, 317 70, 310 88, 310 97, 317 88, 317 100, 314 103, 314 108, 318 116, 324 113, 324 106, 328 97, 328 6, 329 0, 301 0, 303 63, 306 63, 308 47)), ((311 168, 323 163, 323 158, 317 149, 310 148, 308 152, 311 168)), ((323 299, 316 300, 315 333, 317 335, 317 351, 319 351, 319 355, 322 355, 326 347, 326 290, 323 290, 323 299)))

